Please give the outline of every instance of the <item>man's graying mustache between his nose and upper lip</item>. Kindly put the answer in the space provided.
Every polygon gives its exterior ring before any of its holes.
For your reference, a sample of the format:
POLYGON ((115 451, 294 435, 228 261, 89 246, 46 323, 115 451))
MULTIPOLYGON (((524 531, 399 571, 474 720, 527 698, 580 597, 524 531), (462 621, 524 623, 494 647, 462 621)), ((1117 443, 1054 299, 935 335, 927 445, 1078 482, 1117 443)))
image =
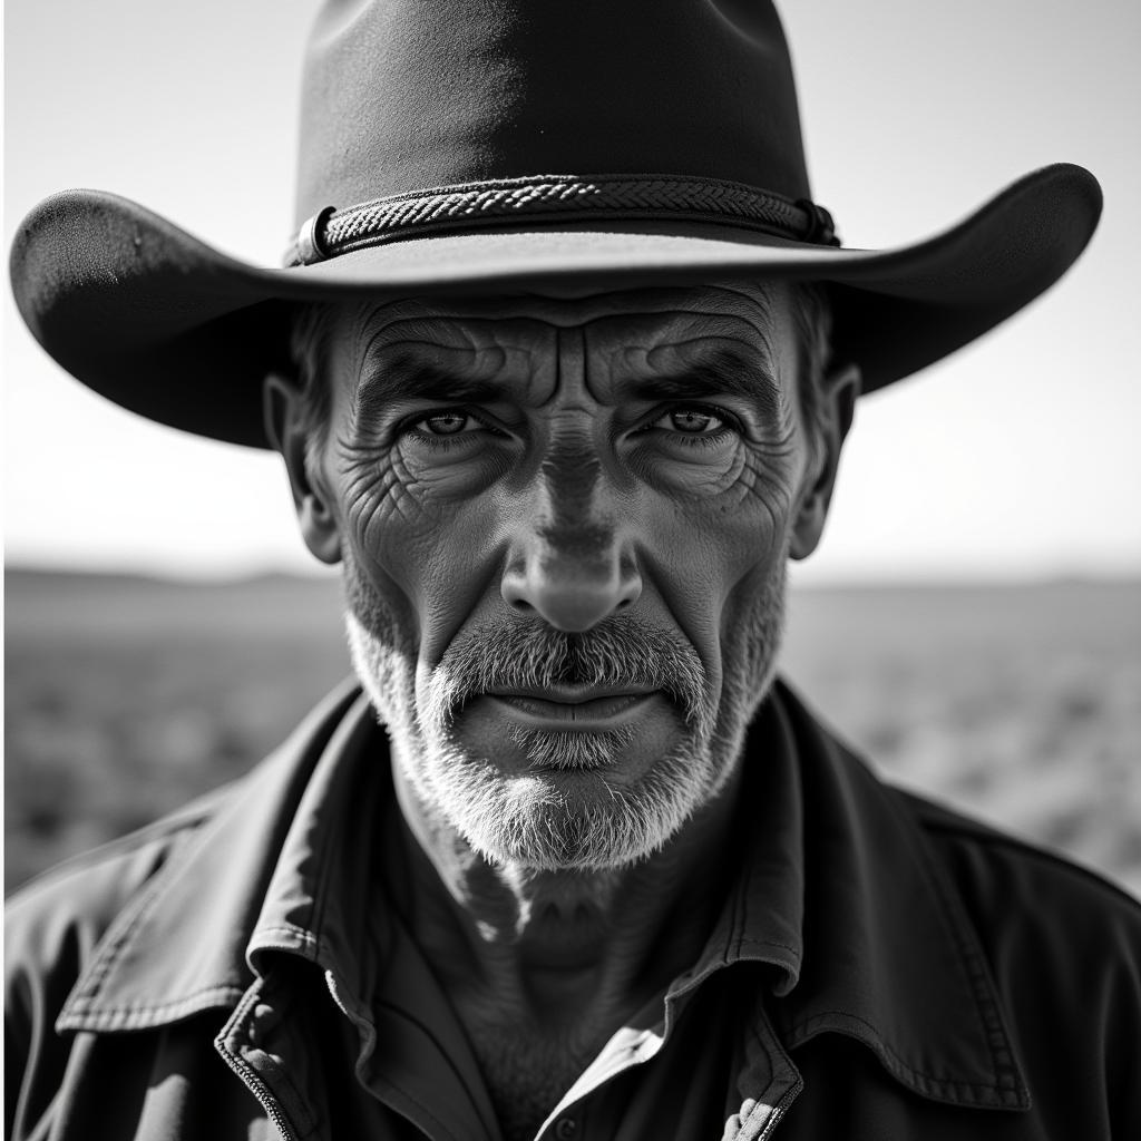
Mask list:
POLYGON ((709 720, 705 669, 679 633, 612 615, 583 633, 540 621, 477 624, 461 630, 430 681, 431 705, 450 721, 467 702, 491 689, 545 689, 556 685, 659 689, 686 723, 709 720))

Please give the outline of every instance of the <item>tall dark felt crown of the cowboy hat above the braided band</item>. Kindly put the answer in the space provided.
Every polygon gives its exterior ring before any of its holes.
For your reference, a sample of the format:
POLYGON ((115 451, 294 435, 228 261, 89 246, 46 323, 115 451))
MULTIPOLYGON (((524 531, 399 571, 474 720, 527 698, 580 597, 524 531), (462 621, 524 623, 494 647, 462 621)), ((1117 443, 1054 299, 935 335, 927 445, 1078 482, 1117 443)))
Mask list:
POLYGON ((768 0, 329 0, 297 219, 533 175, 672 175, 809 197, 768 0))

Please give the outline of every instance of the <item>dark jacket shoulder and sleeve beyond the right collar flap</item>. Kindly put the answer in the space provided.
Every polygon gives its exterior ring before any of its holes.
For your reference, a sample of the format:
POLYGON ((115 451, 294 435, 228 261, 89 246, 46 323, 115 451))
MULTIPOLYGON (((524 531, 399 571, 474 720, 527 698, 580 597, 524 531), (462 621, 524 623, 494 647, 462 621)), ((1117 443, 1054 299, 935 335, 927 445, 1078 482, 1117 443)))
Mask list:
POLYGON ((1086 1135, 1141 1136, 1141 904, 1063 856, 900 795, 974 931, 1039 1114, 1063 1120, 1085 1081, 1085 1112, 1106 1131, 1086 1135))

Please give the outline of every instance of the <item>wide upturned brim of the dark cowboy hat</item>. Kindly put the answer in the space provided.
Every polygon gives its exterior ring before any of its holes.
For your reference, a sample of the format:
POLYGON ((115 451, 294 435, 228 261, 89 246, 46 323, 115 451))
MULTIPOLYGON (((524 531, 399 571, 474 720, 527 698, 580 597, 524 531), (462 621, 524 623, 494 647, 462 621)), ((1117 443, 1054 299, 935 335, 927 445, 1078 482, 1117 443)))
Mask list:
POLYGON ((11 280, 37 340, 84 385, 151 420, 266 447, 262 381, 289 366, 297 302, 818 281, 832 296, 836 353, 860 366, 867 393, 1036 298, 1085 248, 1100 212, 1093 176, 1058 164, 898 249, 631 221, 444 233, 270 269, 228 257, 127 199, 68 191, 22 224, 11 280))

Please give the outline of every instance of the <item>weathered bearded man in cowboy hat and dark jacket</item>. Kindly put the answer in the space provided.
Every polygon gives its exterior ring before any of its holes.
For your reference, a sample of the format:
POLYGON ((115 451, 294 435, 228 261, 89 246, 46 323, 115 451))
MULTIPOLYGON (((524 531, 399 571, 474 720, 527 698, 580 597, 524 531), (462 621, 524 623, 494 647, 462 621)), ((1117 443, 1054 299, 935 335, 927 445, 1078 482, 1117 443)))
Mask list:
POLYGON ((88 192, 14 250, 81 380, 282 454, 363 694, 15 904, 10 1134, 1136 1135, 1136 906, 774 681, 857 395, 1091 176, 840 249, 760 0, 333 3, 304 124, 285 269, 88 192))

